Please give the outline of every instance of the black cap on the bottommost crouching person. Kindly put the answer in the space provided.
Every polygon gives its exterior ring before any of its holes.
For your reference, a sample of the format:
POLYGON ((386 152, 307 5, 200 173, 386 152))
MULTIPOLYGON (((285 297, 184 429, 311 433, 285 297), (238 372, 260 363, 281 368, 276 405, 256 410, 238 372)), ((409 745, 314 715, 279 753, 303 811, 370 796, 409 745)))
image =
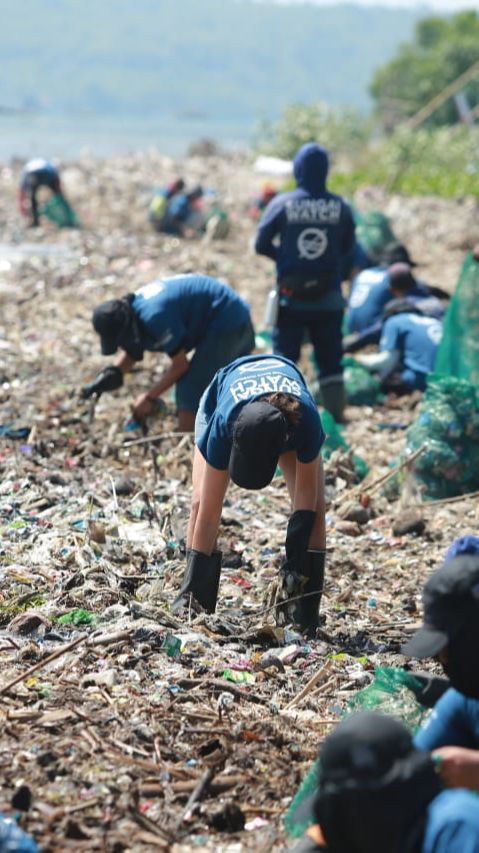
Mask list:
POLYGON ((326 793, 355 785, 376 787, 412 752, 412 737, 399 720, 372 711, 352 714, 323 744, 319 790, 326 793))

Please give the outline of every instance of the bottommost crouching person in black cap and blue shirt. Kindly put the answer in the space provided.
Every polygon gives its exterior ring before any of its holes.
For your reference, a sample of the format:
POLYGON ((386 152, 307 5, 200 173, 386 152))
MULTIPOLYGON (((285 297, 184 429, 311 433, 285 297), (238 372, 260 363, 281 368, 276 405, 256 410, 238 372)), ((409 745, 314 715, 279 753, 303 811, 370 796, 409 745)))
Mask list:
POLYGON ((477 797, 443 790, 431 755, 383 714, 347 717, 326 738, 318 790, 299 808, 315 823, 295 853, 479 853, 477 797))

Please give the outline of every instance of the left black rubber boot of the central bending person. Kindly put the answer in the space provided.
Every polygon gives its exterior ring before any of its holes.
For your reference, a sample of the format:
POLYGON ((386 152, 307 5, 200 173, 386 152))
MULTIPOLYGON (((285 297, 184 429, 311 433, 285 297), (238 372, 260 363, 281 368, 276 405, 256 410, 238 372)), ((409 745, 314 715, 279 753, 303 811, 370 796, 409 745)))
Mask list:
POLYGON ((179 615, 191 606, 197 610, 199 605, 207 613, 214 613, 218 598, 221 574, 221 551, 211 556, 192 548, 187 550, 186 570, 178 596, 171 605, 171 613, 179 615))

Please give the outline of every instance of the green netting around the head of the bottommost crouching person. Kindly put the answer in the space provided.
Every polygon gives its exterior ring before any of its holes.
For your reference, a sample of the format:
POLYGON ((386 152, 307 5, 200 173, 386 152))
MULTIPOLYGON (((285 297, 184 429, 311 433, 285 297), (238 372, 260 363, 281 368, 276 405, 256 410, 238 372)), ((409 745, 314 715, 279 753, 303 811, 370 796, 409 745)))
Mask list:
MULTIPOLYGON (((421 682, 404 669, 377 667, 373 682, 353 696, 343 717, 358 711, 380 711, 402 720, 414 733, 428 713, 414 694, 414 690, 420 690, 421 686, 421 682)), ((314 823, 306 800, 310 800, 317 791, 318 768, 319 759, 316 759, 284 817, 284 828, 291 838, 300 838, 314 823)))

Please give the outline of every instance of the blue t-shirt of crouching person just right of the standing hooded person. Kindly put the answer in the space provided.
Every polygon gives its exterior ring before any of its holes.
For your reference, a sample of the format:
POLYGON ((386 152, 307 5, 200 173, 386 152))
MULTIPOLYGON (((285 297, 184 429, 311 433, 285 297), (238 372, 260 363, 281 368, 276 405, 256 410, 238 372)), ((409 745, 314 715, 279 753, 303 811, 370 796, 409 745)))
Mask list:
POLYGON ((348 302, 348 332, 364 332, 381 320, 384 306, 392 299, 386 267, 362 270, 351 285, 348 302))

